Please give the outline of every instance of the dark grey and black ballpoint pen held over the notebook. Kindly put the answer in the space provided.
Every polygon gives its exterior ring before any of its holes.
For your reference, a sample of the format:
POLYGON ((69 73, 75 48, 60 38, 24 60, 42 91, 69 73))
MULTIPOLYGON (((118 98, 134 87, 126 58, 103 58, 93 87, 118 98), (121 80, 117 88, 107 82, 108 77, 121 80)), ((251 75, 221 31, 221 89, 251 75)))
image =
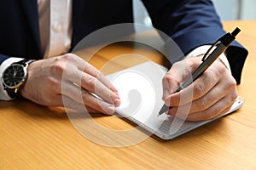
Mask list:
MULTIPOLYGON (((215 42, 211 48, 207 50, 207 53, 203 56, 202 63, 197 67, 197 69, 192 73, 191 76, 188 77, 188 79, 183 82, 182 85, 179 85, 175 93, 179 92, 183 88, 187 88, 189 84, 191 84, 193 81, 195 81, 198 77, 201 76, 201 74, 207 70, 207 68, 212 65, 213 61, 218 59, 218 56, 222 54, 226 48, 230 46, 230 43, 233 42, 236 39, 236 35, 240 32, 241 30, 236 27, 232 33, 228 32, 226 33, 223 37, 220 37, 217 42, 215 42), (218 43, 219 42, 219 43, 218 43), (213 47, 215 47, 218 44, 218 46, 212 51, 211 54, 209 52, 212 50, 213 47), (209 56, 207 57, 207 54, 209 56)), ((170 106, 167 106, 164 104, 162 108, 159 111, 158 116, 162 115, 164 112, 168 111, 171 109, 170 106)))

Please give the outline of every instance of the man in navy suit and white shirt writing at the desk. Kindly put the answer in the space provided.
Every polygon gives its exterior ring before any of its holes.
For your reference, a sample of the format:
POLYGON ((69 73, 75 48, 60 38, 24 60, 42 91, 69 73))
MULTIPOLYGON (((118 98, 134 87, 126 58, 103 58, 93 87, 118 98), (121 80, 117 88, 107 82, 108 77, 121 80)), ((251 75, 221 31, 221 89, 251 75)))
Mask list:
MULTIPOLYGON (((173 65, 165 77, 163 99, 166 105, 172 106, 168 114, 175 115, 178 106, 183 109, 191 102, 188 99, 179 103, 180 96, 188 94, 192 86, 173 94, 178 83, 200 64, 201 55, 207 50, 205 45, 215 42, 224 30, 210 0, 145 0, 143 3, 154 27, 172 37, 183 54, 190 56, 173 65)), ((26 82, 17 90, 1 83, 1 99, 12 99, 21 94, 39 105, 60 106, 63 105, 61 96, 65 96, 70 104, 68 107, 73 108, 75 104, 77 109, 86 105, 89 111, 114 113, 121 102, 116 88, 93 65, 67 52, 92 31, 113 24, 131 23, 131 0, 9 0, 0 3, 0 15, 1 77, 5 76, 3 72, 8 66, 20 58, 36 59, 20 61, 22 65, 29 64, 26 82), (67 61, 73 66, 65 66, 67 61), (64 80, 63 72, 70 73, 64 80), (81 82, 78 81, 80 77, 81 82), (67 85, 65 94, 61 94, 61 81, 67 85), (96 85, 99 87, 97 91, 96 85), (83 88, 82 91, 78 86, 83 88), (90 93, 96 93, 102 100, 90 93), (83 103, 79 103, 80 97, 84 99, 83 103)), ((240 83, 247 50, 235 42, 226 54, 227 59, 223 54, 193 82, 194 95, 188 120, 206 120, 224 114, 236 99, 236 83, 240 83)), ((13 74, 15 77, 16 71, 13 74)))

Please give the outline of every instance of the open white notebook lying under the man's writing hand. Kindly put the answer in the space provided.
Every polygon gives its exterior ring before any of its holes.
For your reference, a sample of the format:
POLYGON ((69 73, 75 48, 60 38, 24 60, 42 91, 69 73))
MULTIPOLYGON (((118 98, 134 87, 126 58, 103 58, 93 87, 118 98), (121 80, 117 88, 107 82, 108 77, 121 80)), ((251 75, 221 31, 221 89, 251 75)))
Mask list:
MULTIPOLYGON (((121 105, 116 109, 117 114, 135 122, 149 133, 154 133, 160 139, 174 139, 219 118, 188 122, 176 116, 158 116, 164 105, 161 99, 162 78, 166 71, 165 67, 148 61, 108 75, 108 80, 119 90, 121 105)), ((236 99, 225 115, 236 111, 242 105, 243 100, 236 99)))

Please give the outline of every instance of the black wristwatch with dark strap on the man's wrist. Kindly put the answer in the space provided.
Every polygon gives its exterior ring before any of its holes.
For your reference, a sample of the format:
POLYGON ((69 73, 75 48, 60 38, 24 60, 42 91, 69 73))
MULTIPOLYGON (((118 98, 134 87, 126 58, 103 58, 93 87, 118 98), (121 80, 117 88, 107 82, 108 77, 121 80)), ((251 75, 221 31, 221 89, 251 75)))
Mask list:
POLYGON ((3 88, 9 94, 10 98, 19 99, 21 97, 19 90, 26 82, 26 68, 30 63, 32 63, 32 61, 34 60, 22 59, 19 62, 9 65, 9 67, 3 71, 3 88))

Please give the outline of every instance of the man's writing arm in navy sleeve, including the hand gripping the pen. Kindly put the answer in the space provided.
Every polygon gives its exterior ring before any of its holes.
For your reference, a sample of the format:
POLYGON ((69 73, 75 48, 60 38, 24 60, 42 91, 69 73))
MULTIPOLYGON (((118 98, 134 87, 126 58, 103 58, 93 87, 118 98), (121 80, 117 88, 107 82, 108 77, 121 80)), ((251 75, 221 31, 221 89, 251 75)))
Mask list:
MULTIPOLYGON (((143 2, 154 26, 172 37, 184 55, 216 42, 225 33, 210 0, 166 0, 160 4, 156 1, 143 2)), ((168 40, 166 45, 168 50, 168 40)), ((173 57, 172 49, 170 54, 173 57)), ((226 65, 217 60, 189 87, 175 94, 178 84, 201 64, 203 54, 186 59, 174 56, 177 62, 172 63, 163 79, 163 99, 166 105, 172 106, 167 114, 200 121, 223 115, 230 110, 237 97, 236 83, 240 83, 247 50, 235 42, 227 49, 226 54, 233 77, 226 65)))

